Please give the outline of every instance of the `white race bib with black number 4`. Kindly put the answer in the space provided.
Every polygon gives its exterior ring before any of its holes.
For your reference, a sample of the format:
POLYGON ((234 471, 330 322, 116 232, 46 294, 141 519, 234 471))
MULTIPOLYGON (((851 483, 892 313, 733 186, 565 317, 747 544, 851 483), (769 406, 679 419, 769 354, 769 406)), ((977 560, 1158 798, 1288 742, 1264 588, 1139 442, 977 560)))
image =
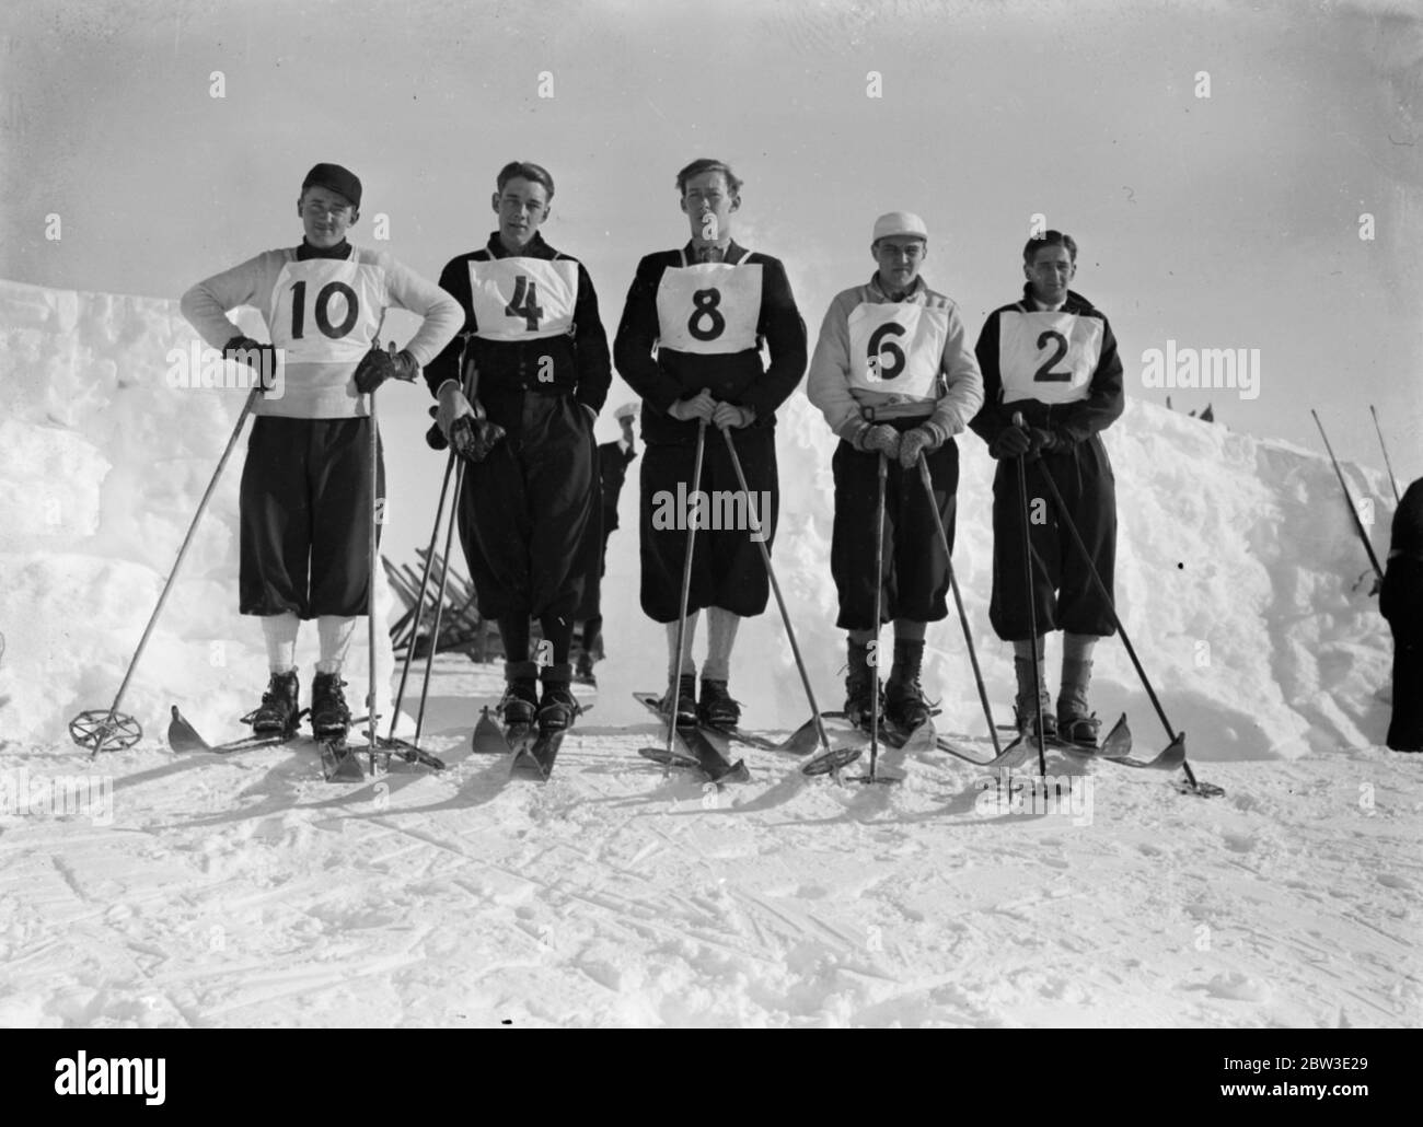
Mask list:
POLYGON ((481 340, 539 340, 573 326, 578 263, 508 258, 470 262, 474 334, 481 340))

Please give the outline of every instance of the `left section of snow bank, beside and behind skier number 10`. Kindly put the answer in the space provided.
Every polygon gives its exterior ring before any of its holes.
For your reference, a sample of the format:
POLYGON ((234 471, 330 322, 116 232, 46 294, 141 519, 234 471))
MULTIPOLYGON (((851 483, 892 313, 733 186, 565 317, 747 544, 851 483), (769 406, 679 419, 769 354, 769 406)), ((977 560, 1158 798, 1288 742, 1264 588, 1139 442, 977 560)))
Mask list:
MULTIPOLYGON (((0 282, 0 702, 10 739, 60 740, 77 711, 114 700, 246 397, 168 387, 169 350, 194 339, 176 302, 0 282)), ((121 704, 148 736, 162 736, 174 702, 199 731, 236 734, 235 717, 266 683, 260 628, 238 615, 245 443, 121 704)), ((384 620, 383 573, 376 605, 384 620)), ((384 629, 377 637, 388 670, 384 629)), ((297 662, 309 680, 314 626, 297 662)), ((366 696, 366 662, 361 630, 346 673, 353 703, 366 696)))

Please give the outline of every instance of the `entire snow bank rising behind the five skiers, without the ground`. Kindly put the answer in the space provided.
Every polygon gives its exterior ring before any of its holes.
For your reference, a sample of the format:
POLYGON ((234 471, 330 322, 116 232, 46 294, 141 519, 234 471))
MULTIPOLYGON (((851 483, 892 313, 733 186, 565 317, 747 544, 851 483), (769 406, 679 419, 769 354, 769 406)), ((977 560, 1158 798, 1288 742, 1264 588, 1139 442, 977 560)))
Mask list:
MULTIPOLYGON (((169 349, 188 349, 192 339, 174 302, 0 282, 0 697, 13 737, 58 739, 70 716, 107 706, 118 687, 245 394, 166 386, 169 349)), ((1190 734, 1192 757, 1294 757, 1380 743, 1386 714, 1373 693, 1387 680, 1387 629, 1368 583, 1356 585, 1368 561, 1328 460, 1141 403, 1128 406, 1107 445, 1121 522, 1120 610, 1167 714, 1190 734)), ((828 562, 832 447, 797 393, 780 428, 774 558, 822 707, 841 704, 844 676, 828 562)), ((1006 720, 1012 659, 988 623, 993 464, 972 435, 961 440, 961 454, 955 565, 1006 720)), ((629 693, 665 683, 662 629, 638 602, 636 470, 609 548, 599 723, 640 723, 629 693)), ((201 730, 231 733, 265 682, 258 626, 236 613, 239 472, 240 451, 124 704, 152 734, 174 700, 201 730)), ((1392 512, 1385 480, 1358 467, 1346 472, 1377 514, 1382 554, 1392 512)), ((431 490, 437 474, 434 467, 431 490)), ((381 575, 381 616, 390 606, 381 575)), ((388 669, 384 629, 379 637, 388 669)), ((307 628, 303 679, 314 649, 307 628)), ((704 637, 699 659, 703 650, 704 637)), ((1056 643, 1050 656, 1056 672, 1056 643)), ((347 667, 353 702, 364 699, 364 669, 361 629, 347 667)), ((941 727, 983 730, 952 616, 931 629, 925 684, 942 697, 941 727)), ((731 690, 756 726, 791 727, 807 713, 774 603, 743 626, 731 690)), ((1109 720, 1128 711, 1146 743, 1161 739, 1120 640, 1099 649, 1093 700, 1109 720)))

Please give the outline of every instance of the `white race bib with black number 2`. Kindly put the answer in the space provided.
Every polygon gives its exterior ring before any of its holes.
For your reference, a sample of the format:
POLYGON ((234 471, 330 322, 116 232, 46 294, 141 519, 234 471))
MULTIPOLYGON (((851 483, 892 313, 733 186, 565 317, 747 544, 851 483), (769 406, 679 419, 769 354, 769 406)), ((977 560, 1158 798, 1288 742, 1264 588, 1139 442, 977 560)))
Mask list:
POLYGON ((998 369, 1003 403, 1077 403, 1087 398, 1101 357, 1097 317, 1076 313, 998 314, 998 369))

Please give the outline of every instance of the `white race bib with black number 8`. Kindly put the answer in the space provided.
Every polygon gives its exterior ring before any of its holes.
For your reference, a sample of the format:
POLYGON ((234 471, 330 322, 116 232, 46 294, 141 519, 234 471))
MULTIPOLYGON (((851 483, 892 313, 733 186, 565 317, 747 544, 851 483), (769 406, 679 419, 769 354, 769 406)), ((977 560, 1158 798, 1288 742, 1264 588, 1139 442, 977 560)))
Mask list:
POLYGON ((729 262, 669 266, 657 285, 657 336, 687 353, 737 353, 756 347, 761 319, 761 268, 729 262))

